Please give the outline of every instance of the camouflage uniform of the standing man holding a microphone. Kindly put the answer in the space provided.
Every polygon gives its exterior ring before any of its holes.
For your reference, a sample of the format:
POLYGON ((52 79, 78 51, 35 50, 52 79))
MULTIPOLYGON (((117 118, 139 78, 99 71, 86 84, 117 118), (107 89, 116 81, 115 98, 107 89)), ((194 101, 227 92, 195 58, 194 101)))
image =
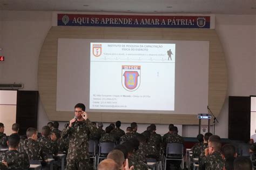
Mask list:
POLYGON ((67 169, 92 169, 89 164, 89 135, 97 133, 97 127, 89 119, 76 121, 72 127, 65 127, 62 137, 69 137, 69 151, 66 157, 67 169))

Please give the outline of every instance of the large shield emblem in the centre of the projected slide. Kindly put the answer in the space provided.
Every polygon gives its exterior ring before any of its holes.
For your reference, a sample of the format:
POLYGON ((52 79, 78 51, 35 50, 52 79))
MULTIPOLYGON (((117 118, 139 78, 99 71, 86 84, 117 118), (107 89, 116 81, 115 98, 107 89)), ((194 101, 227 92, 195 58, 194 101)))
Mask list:
POLYGON ((127 91, 136 91, 140 85, 140 66, 122 66, 122 85, 127 91))

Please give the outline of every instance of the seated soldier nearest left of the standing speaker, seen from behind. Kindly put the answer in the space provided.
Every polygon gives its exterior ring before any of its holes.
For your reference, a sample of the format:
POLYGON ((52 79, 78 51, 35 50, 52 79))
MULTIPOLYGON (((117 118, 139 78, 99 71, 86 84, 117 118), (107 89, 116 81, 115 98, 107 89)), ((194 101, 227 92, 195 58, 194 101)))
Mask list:
MULTIPOLYGON (((48 155, 48 158, 52 158, 52 155, 58 154, 57 142, 51 139, 51 130, 49 126, 42 128, 42 137, 38 139, 38 144, 41 146, 42 151, 48 155)), ((56 139, 55 139, 56 140, 56 139)))

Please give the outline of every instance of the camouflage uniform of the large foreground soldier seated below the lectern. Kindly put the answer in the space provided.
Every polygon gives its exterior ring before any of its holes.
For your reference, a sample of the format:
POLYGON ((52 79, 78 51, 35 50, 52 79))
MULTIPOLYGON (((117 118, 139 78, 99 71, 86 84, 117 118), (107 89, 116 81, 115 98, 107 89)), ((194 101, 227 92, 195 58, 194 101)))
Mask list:
MULTIPOLYGON (((211 166, 216 164, 216 166, 219 166, 218 164, 224 165, 224 160, 221 157, 221 153, 219 151, 215 151, 212 154, 208 155, 207 157, 203 157, 201 161, 199 162, 199 169, 211 169, 211 166)), ((222 167, 223 169, 223 167, 222 167)))

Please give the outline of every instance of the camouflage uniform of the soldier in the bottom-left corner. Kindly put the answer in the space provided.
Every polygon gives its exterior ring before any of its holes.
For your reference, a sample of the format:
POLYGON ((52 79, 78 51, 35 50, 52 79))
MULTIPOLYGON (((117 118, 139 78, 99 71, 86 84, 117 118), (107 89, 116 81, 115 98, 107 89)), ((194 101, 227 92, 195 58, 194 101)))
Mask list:
POLYGON ((28 169, 29 157, 25 153, 19 153, 18 151, 6 151, 0 153, 0 161, 5 161, 8 164, 8 169, 28 169))

